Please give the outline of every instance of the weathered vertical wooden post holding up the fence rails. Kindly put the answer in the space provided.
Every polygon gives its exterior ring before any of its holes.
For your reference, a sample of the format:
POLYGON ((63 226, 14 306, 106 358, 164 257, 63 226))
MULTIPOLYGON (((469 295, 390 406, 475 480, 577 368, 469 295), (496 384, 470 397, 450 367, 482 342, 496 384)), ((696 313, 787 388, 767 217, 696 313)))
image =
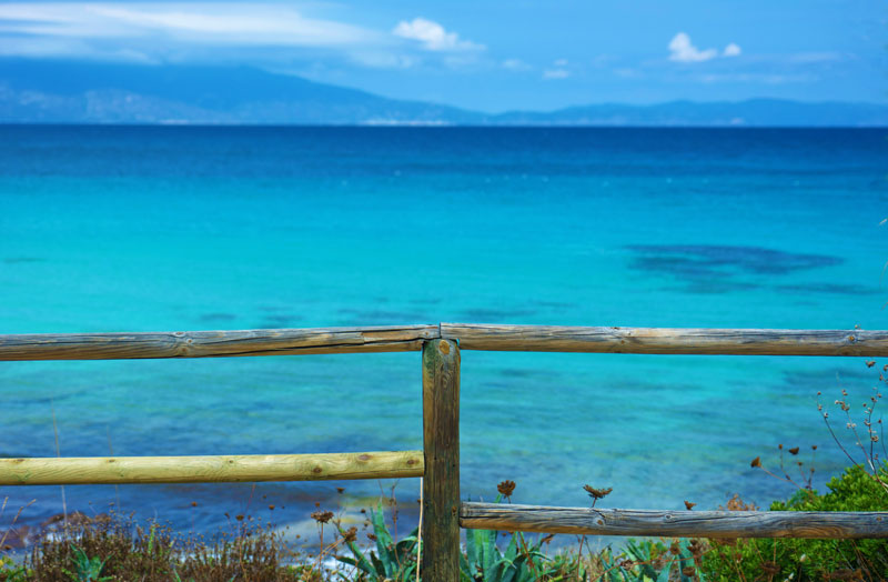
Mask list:
POLYGON ((460 347, 423 344, 424 582, 460 580, 460 347))

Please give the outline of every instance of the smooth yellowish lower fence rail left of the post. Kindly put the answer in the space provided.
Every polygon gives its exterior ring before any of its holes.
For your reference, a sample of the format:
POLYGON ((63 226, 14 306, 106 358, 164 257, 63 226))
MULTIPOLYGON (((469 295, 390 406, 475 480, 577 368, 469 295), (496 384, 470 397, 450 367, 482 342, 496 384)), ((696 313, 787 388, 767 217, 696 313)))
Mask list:
POLYGON ((0 459, 0 485, 326 481, 422 475, 422 451, 0 459))

